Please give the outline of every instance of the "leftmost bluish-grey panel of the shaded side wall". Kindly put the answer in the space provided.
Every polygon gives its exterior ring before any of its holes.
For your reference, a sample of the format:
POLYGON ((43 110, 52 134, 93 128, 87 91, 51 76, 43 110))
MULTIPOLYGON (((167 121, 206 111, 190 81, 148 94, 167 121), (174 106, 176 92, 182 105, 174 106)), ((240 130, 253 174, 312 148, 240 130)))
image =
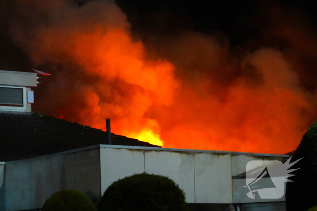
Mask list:
POLYGON ((30 208, 30 163, 5 165, 5 210, 30 208))

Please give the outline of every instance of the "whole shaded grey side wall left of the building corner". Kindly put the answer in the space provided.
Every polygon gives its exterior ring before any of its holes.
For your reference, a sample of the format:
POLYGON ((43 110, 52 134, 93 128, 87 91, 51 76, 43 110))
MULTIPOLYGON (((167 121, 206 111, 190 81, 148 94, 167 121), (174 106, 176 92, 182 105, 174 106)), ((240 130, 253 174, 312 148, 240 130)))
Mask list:
POLYGON ((5 211, 42 208, 52 194, 62 189, 77 189, 99 201, 99 148, 6 162, 4 181, 5 211))

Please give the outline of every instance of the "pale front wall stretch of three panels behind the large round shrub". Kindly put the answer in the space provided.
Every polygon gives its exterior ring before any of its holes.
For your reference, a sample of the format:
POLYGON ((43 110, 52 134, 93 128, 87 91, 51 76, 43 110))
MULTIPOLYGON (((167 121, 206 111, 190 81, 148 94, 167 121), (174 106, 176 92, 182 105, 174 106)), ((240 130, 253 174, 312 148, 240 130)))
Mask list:
POLYGON ((100 148, 101 192, 118 179, 146 172, 169 177, 188 203, 232 203, 230 154, 100 148))

